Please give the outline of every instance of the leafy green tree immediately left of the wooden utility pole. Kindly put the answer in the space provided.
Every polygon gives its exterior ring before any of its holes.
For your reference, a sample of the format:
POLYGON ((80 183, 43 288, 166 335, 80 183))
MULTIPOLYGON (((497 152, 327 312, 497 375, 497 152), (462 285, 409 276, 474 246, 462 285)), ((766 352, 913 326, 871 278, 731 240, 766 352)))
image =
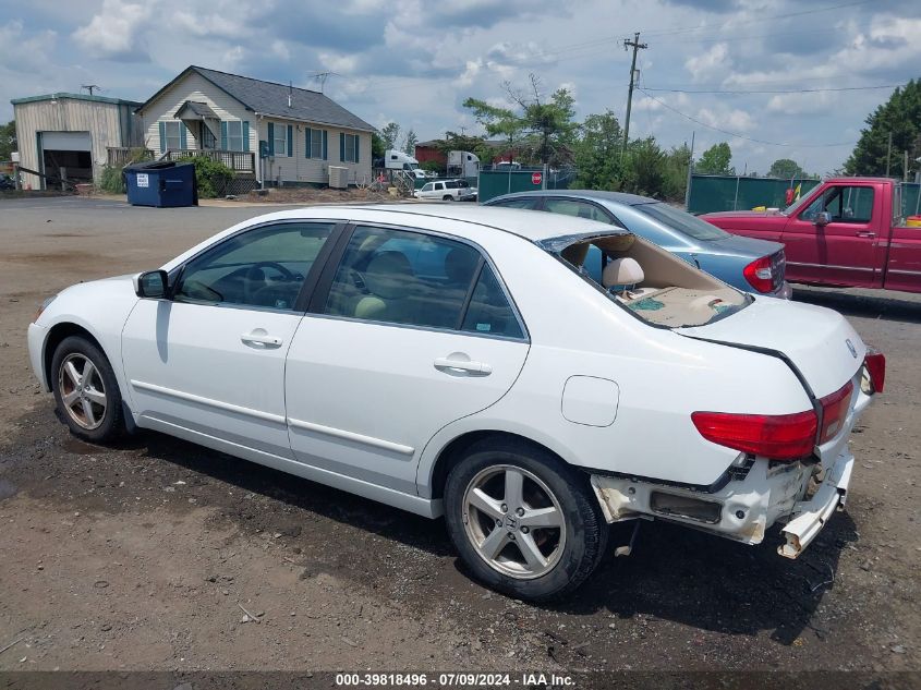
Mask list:
POLYGON ((610 110, 590 114, 580 128, 581 136, 573 144, 579 177, 575 186, 587 190, 620 189, 620 142, 623 131, 610 110))

